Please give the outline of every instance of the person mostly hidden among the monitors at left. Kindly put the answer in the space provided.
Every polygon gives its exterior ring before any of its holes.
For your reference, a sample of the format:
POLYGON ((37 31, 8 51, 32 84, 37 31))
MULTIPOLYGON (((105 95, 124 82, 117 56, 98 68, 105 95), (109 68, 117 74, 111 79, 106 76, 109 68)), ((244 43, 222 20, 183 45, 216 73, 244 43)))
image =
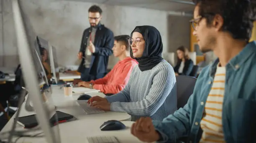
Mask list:
POLYGON ((51 66, 48 58, 48 52, 44 47, 40 47, 41 50, 41 57, 42 57, 42 64, 44 70, 46 72, 47 79, 51 79, 51 66))

